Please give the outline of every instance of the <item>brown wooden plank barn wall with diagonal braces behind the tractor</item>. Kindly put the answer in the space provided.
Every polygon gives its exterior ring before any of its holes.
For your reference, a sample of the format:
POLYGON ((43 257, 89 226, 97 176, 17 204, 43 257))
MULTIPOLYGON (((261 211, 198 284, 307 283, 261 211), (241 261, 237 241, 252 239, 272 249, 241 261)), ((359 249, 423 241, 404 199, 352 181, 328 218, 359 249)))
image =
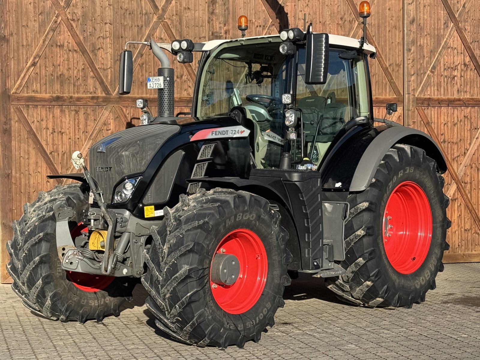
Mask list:
MULTIPOLYGON (((138 124, 138 96, 157 61, 133 47, 131 96, 118 95, 118 55, 127 40, 206 41, 303 27, 361 36, 358 0, 0 0, 0 281, 5 243, 22 205, 72 171, 74 150, 138 124)), ((375 115, 396 101, 394 120, 429 133, 444 149, 450 251, 444 261, 480 261, 480 10, 474 0, 371 0, 368 39, 375 115)), ((195 60, 198 55, 195 55, 195 60)), ((176 110, 191 103, 196 61, 176 69, 176 110)), ((156 111, 154 109, 154 111, 156 111)))

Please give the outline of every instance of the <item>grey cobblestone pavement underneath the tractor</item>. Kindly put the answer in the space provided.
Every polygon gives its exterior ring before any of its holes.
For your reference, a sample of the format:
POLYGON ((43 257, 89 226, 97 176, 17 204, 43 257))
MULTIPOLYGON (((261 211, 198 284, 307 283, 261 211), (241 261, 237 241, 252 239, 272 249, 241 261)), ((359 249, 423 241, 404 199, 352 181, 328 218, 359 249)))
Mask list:
POLYGON ((365 309, 336 300, 322 279, 285 290, 276 325, 245 348, 196 348, 155 326, 139 285, 120 317, 101 324, 39 318, 0 285, 0 359, 479 359, 480 264, 447 264, 437 289, 412 309, 365 309))

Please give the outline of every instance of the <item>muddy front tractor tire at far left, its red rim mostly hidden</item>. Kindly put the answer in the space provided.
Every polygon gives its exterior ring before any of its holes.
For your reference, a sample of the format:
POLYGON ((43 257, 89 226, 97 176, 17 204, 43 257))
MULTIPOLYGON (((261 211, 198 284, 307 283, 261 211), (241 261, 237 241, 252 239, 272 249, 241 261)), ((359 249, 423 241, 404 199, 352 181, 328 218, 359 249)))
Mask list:
POLYGON ((7 242, 12 290, 32 312, 52 320, 101 322, 120 314, 120 304, 131 299, 137 283, 131 278, 66 272, 57 252, 53 205, 64 200, 74 210, 72 237, 80 235, 82 210, 88 207, 88 187, 83 184, 56 186, 39 192, 24 214, 14 221, 13 239, 7 242), (76 235, 74 236, 73 233, 76 235))

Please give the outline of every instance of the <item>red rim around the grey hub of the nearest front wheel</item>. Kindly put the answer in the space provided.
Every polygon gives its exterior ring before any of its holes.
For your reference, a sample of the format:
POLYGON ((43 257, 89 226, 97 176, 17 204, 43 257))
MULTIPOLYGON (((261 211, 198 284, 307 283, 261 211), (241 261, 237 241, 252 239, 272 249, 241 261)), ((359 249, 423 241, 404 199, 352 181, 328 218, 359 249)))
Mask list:
POLYGON ((268 260, 262 240, 251 230, 233 230, 220 241, 215 250, 217 253, 235 255, 240 274, 232 285, 215 284, 210 278, 216 303, 230 314, 250 310, 260 299, 267 279, 268 260))

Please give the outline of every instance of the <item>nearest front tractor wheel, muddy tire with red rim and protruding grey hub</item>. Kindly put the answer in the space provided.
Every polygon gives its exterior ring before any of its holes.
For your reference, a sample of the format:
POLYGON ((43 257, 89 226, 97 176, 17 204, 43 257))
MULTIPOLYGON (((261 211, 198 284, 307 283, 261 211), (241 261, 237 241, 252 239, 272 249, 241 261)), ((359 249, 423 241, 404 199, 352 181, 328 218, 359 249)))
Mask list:
POLYGON ((260 196, 218 188, 181 195, 164 213, 163 223, 152 228, 142 277, 156 325, 199 347, 242 348, 259 341, 285 305, 283 290, 290 284, 288 234, 280 215, 260 196), (220 254, 239 260, 233 285, 212 281, 212 262, 220 254))

